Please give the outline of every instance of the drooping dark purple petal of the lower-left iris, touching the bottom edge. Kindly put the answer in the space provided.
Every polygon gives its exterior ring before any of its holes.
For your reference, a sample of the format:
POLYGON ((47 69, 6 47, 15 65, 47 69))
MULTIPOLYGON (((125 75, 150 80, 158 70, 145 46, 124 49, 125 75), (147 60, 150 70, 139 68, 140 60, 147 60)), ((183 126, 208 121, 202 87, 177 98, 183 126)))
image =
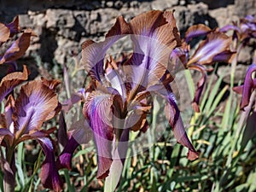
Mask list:
POLYGON ((41 144, 45 154, 45 160, 40 173, 41 182, 43 183, 44 188, 61 191, 63 183, 55 165, 53 145, 47 137, 38 138, 38 141, 41 144))

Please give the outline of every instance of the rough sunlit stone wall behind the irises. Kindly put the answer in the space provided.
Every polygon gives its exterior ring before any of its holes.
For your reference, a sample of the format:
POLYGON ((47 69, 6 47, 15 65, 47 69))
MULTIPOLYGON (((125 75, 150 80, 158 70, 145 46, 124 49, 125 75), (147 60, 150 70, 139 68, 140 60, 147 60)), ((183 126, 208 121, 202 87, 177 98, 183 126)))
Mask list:
POLYGON ((43 62, 67 62, 87 38, 99 40, 118 15, 126 20, 150 9, 175 9, 177 26, 183 32, 191 25, 224 26, 238 16, 255 14, 256 0, 8 0, 0 3, 0 20, 9 22, 20 15, 21 27, 32 27, 38 38, 32 39, 28 55, 36 52, 43 62))

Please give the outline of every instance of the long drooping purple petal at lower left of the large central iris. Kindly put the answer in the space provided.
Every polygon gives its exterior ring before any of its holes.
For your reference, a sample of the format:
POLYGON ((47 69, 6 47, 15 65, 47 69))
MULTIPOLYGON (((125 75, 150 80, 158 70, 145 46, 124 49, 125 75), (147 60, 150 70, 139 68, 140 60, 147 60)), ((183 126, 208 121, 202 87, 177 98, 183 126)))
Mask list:
POLYGON ((98 155, 97 178, 108 176, 109 168, 112 164, 112 106, 113 95, 95 90, 90 93, 84 103, 83 113, 89 119, 90 128, 95 138, 98 155))

